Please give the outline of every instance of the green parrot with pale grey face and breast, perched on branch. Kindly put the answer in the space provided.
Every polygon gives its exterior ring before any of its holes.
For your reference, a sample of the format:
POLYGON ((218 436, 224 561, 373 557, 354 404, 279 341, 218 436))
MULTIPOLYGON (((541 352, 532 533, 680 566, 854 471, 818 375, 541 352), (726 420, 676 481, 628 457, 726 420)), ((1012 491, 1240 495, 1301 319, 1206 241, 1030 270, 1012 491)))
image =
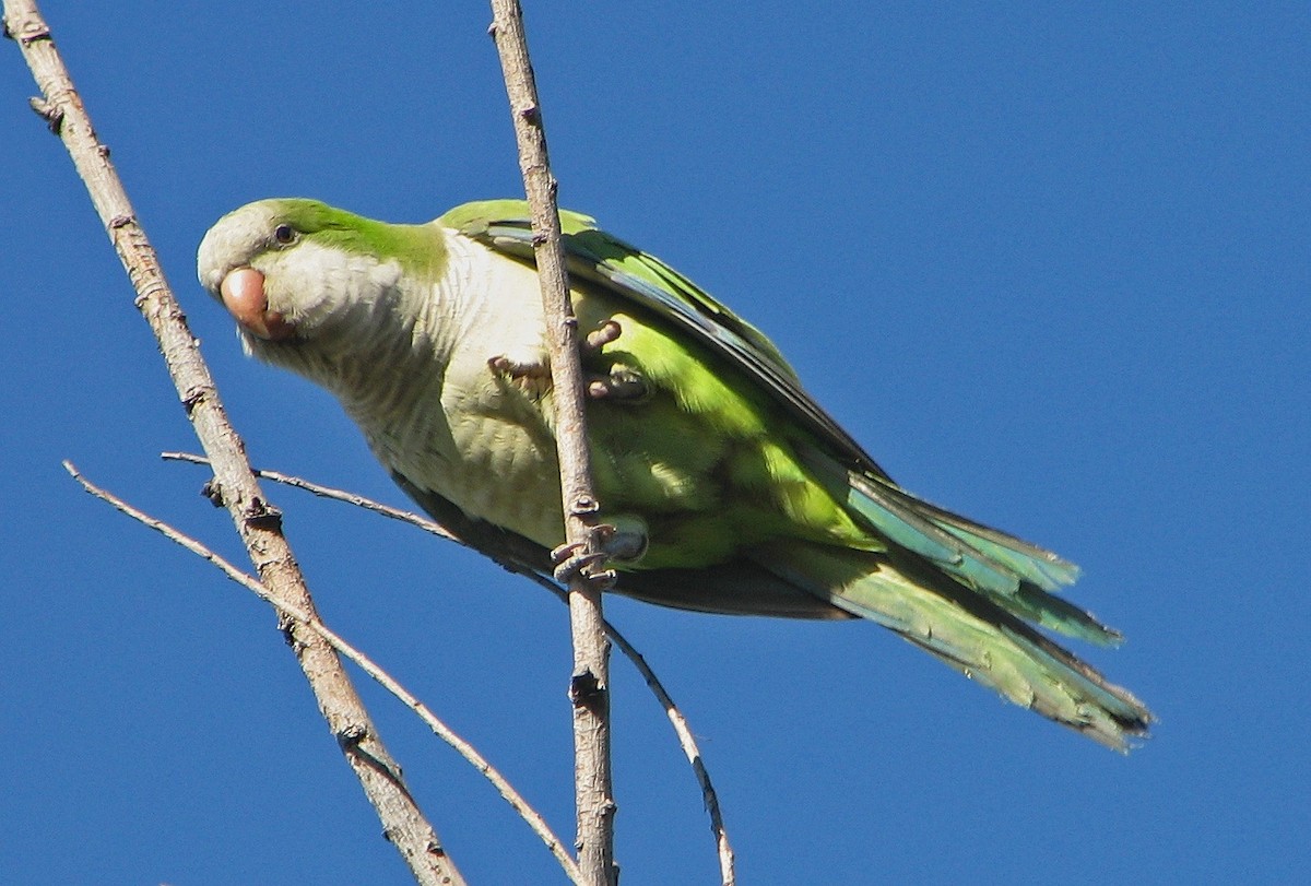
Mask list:
MULTIPOLYGON (((551 374, 522 201, 387 224, 308 199, 223 216, 201 283, 248 354, 323 385, 396 482, 482 553, 564 550, 551 374)), ((615 591, 701 612, 869 619, 1109 747, 1151 713, 1037 628, 1120 634, 1078 568, 911 495, 788 362, 665 262, 560 214, 615 591)))

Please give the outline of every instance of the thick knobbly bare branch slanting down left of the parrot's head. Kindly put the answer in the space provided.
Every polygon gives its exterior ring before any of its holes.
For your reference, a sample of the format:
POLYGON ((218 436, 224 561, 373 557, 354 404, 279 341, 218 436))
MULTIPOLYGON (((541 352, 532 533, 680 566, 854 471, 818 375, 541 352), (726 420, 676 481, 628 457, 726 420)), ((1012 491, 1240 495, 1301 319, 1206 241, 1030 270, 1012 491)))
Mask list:
MULTIPOLYGON (((228 422, 214 379, 201 356, 186 317, 160 270, 159 257, 136 222, 127 193, 100 143, 73 88, 50 29, 31 0, 4 0, 5 34, 22 51, 41 88, 33 107, 64 143, 92 203, 136 290, 136 307, 149 322, 169 375, 214 469, 211 489, 232 515, 237 533, 270 596, 283 611, 316 619, 313 602, 291 547, 282 535, 282 515, 260 490, 245 446, 228 422)), ((464 879, 423 819, 374 729, 359 696, 328 641, 308 624, 282 619, 302 670, 328 726, 378 810, 384 834, 423 885, 452 886, 464 879)))

